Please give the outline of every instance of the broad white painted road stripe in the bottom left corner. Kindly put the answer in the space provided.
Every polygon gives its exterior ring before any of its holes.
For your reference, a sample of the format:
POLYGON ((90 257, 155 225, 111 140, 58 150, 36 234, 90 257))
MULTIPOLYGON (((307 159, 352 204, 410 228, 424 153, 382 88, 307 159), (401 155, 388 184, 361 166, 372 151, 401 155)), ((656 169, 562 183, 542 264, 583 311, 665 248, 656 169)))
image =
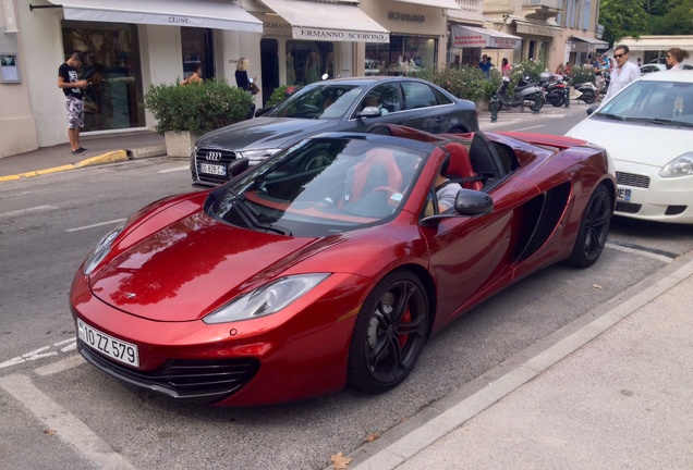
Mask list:
POLYGON ((47 429, 56 431, 56 435, 62 442, 72 446, 99 468, 106 470, 135 468, 86 424, 38 389, 26 375, 0 378, 0 387, 28 408, 47 429))

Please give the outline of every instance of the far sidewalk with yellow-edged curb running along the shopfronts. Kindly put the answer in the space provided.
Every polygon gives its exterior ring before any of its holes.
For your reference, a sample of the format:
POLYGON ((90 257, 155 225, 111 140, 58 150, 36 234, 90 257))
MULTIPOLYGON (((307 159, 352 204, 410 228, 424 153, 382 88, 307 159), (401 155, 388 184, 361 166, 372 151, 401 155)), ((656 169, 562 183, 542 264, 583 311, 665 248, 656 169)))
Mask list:
MULTIPOLYGON (((490 122, 490 112, 488 110, 479 110, 478 121, 483 131, 491 131, 498 125, 521 122, 533 116, 567 114, 570 112, 584 113, 584 109, 585 107, 578 104, 571 104, 571 108, 554 108, 549 106, 544 107, 539 114, 534 114, 528 108, 524 112, 521 112, 519 108, 513 108, 499 112, 496 123, 490 122)), ((89 151, 80 156, 72 154, 69 144, 61 144, 0 158, 0 183, 84 166, 166 156, 163 136, 148 131, 82 136, 81 144, 83 147, 87 147, 89 151)))

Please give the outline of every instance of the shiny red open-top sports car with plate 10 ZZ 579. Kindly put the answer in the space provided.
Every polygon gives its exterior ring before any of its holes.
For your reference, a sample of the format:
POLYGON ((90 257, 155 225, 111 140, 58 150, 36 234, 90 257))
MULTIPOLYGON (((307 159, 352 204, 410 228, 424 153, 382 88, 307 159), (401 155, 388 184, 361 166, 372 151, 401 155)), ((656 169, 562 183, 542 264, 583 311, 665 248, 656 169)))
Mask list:
POLYGON ((307 138, 257 166, 236 160, 229 183, 111 231, 72 284, 82 355, 215 405, 378 393, 482 300, 558 261, 599 258, 616 199, 605 150, 373 131, 307 138))

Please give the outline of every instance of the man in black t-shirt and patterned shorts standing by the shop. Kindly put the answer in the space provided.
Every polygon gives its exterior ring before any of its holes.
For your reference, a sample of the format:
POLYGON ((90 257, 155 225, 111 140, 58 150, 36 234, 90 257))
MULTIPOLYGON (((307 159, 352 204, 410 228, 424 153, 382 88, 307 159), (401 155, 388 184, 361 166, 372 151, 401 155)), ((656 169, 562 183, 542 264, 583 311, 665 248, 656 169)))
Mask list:
POLYGON ((80 145, 80 129, 84 127, 84 92, 88 81, 80 79, 77 69, 82 66, 82 53, 73 52, 70 59, 58 67, 58 88, 65 94, 68 116, 68 138, 73 154, 82 154, 88 149, 80 145))

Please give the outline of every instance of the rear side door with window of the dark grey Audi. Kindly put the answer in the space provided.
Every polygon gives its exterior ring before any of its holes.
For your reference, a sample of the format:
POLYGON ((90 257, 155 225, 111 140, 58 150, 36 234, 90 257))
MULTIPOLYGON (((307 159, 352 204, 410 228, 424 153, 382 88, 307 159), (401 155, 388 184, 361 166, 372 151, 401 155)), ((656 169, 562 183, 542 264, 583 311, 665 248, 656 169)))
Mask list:
POLYGON ((450 121, 450 106, 438 101, 438 94, 422 82, 402 81, 404 97, 404 125, 439 134, 446 132, 450 121))

